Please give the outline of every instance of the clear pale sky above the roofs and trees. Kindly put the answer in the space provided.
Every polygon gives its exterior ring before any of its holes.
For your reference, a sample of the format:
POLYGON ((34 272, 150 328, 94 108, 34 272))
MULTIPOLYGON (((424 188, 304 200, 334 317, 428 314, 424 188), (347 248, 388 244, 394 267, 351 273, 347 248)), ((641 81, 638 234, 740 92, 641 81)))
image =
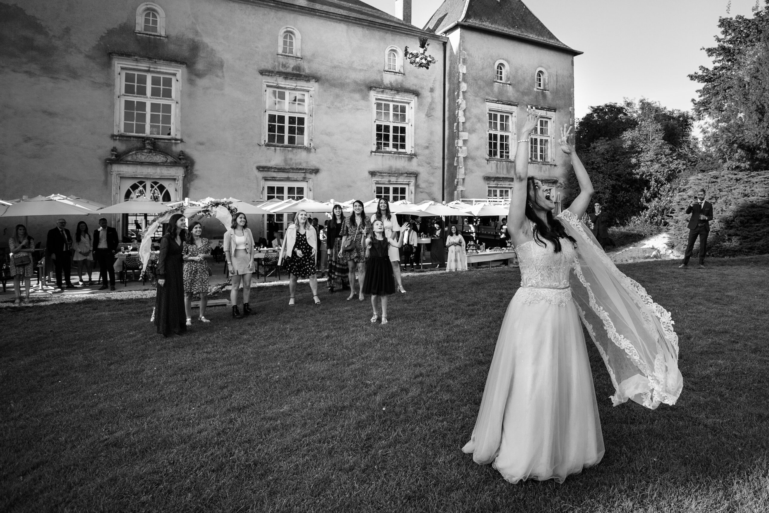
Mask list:
MULTIPOLYGON (((501 0, 504 2, 505 0, 501 0)), ((394 0, 364 0, 394 14, 394 0)), ((442 0, 412 0, 412 22, 423 27, 442 0)), ((647 98, 691 109, 699 84, 687 78, 711 66, 701 50, 715 45, 718 17, 751 16, 756 0, 524 0, 574 58, 574 108, 647 98)), ((763 5, 764 0, 761 0, 763 5)))

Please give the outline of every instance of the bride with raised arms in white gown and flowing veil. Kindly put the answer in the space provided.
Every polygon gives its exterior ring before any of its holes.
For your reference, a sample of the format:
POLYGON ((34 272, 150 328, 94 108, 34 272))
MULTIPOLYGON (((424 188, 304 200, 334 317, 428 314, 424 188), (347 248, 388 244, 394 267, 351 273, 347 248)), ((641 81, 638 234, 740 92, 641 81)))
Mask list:
POLYGON ((593 186, 568 142, 568 125, 558 144, 580 187, 568 210, 554 217, 553 189, 528 176, 528 135, 537 126, 529 108, 508 215, 521 288, 504 315, 478 419, 462 448, 512 483, 560 483, 604 455, 580 318, 611 376, 614 405, 628 398, 647 408, 673 405, 683 384, 670 314, 614 266, 579 221, 593 186))

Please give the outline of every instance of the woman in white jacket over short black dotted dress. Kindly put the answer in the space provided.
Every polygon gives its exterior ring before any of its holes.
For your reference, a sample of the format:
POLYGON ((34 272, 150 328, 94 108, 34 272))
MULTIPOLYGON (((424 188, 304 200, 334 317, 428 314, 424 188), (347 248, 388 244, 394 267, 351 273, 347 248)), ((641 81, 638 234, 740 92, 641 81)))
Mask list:
POLYGON ((318 237, 315 227, 308 222, 307 212, 300 210, 296 213, 294 224, 288 226, 283 239, 281 257, 278 265, 288 272, 288 306, 294 306, 296 281, 299 277, 310 278, 310 288, 315 305, 321 304, 318 297, 318 277, 315 275, 315 262, 318 255, 318 237))

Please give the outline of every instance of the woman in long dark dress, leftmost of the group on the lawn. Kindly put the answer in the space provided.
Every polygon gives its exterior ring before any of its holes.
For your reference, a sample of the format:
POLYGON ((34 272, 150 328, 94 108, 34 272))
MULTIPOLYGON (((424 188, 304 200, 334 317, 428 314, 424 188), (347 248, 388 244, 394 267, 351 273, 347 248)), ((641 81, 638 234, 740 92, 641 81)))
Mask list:
POLYGON ((185 315, 185 281, 182 274, 181 242, 187 233, 185 216, 174 214, 168 222, 168 231, 160 240, 160 255, 155 274, 158 275, 158 293, 155 295, 155 326, 158 333, 168 337, 187 331, 185 315))

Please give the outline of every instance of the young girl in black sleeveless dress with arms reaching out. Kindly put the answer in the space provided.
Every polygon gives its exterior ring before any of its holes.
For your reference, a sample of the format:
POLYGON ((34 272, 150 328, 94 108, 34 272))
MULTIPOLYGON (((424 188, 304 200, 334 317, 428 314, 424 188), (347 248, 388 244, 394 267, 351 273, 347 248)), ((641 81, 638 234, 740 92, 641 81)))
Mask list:
POLYGON ((379 314, 377 313, 377 297, 381 298, 382 304, 382 324, 387 324, 387 297, 395 291, 395 278, 392 274, 392 265, 388 248, 393 246, 400 248, 403 245, 403 235, 408 223, 401 229, 401 238, 394 241, 384 236, 384 224, 376 220, 372 225, 373 234, 366 238, 366 276, 363 281, 363 294, 371 294, 371 308, 374 309, 374 315, 371 322, 376 322, 379 314))

